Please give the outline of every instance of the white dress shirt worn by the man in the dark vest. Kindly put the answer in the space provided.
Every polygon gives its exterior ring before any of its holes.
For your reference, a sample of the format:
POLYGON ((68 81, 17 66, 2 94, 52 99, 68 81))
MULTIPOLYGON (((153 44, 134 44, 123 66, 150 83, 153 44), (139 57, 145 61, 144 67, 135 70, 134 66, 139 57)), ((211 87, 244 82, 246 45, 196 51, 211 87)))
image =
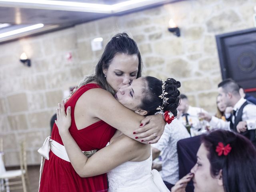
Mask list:
MULTIPOLYGON (((246 99, 240 98, 240 100, 235 104, 234 110, 236 110, 236 114, 240 109, 240 107, 242 106, 242 104, 244 104, 244 102, 246 102, 246 99)), ((233 123, 234 123, 234 119, 235 119, 235 116, 233 115, 232 116, 233 123)), ((244 106, 242 121, 246 122, 248 130, 256 129, 256 105, 247 104, 246 106, 244 106)), ((210 126, 212 126, 212 128, 221 128, 221 129, 230 130, 230 122, 224 121, 214 116, 212 117, 209 123, 210 123, 210 126)))

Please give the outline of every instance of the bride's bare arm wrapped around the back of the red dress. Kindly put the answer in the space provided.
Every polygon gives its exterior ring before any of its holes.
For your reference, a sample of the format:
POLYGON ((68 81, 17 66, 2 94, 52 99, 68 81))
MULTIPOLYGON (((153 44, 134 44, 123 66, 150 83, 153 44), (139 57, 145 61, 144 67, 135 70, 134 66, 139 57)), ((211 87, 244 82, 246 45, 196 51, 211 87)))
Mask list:
POLYGON ((79 176, 90 177, 106 173, 143 153, 144 144, 123 137, 87 158, 68 131, 69 126, 67 124, 70 122, 68 116, 70 116, 71 110, 70 108, 67 109, 67 116, 64 110, 63 106, 62 110, 59 107, 56 124, 70 162, 79 176))

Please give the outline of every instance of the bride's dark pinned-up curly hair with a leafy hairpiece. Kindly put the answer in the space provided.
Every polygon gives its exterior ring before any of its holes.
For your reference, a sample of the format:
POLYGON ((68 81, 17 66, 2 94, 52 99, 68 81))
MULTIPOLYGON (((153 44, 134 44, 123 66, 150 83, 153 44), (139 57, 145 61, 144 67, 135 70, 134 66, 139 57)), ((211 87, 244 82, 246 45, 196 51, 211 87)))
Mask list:
MULTIPOLYGON (((156 108, 162 106, 163 99, 159 96, 162 94, 162 81, 151 76, 146 76, 143 78, 145 81, 145 88, 142 92, 144 97, 141 101, 140 108, 148 112, 147 115, 152 115, 158 112, 156 108)), ((173 78, 168 78, 165 81, 165 92, 166 98, 169 98, 167 102, 163 105, 163 111, 170 111, 174 116, 177 116, 177 107, 180 103, 180 82, 173 78)))

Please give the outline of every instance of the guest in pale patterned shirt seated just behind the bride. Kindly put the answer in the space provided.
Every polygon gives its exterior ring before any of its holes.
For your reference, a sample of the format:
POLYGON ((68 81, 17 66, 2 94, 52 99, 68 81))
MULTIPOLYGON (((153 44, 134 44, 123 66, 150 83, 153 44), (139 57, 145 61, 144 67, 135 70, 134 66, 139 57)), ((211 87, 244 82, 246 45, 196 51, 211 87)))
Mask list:
POLYGON ((179 180, 177 142, 188 137, 190 137, 190 134, 184 125, 174 119, 171 124, 166 124, 164 133, 158 143, 151 144, 153 160, 162 152, 162 171, 160 171, 160 175, 169 190, 179 180))

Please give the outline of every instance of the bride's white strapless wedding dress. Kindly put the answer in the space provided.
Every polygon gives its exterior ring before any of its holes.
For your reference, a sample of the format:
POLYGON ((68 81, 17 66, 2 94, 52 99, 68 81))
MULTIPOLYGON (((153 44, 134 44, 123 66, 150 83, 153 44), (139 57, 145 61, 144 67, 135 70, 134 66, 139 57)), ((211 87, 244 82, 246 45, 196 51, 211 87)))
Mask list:
POLYGON ((108 172, 108 192, 170 192, 151 166, 152 152, 144 161, 128 161, 112 169, 108 172))

